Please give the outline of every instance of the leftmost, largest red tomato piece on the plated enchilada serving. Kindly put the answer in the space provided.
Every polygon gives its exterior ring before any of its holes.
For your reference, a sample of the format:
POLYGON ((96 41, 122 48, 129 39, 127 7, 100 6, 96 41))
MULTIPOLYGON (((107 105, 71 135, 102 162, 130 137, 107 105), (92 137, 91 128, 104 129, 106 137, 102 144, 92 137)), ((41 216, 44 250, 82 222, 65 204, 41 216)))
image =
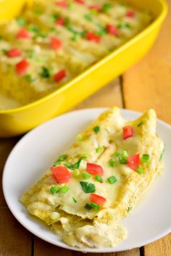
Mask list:
POLYGON ((51 172, 54 174, 54 178, 58 183, 67 183, 70 181, 71 173, 66 166, 52 166, 51 172))

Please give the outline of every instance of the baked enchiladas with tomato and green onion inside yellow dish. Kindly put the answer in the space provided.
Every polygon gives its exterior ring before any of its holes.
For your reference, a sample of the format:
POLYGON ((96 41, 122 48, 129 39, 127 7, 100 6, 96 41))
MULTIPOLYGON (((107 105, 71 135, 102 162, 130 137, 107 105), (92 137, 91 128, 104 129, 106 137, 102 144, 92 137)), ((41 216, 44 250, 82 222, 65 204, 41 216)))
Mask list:
MULTIPOLYGON (((120 1, 35 0, 0 25, 1 91, 28 104, 72 80, 151 22, 120 1)), ((88 85, 89 86, 89 85, 88 85)))

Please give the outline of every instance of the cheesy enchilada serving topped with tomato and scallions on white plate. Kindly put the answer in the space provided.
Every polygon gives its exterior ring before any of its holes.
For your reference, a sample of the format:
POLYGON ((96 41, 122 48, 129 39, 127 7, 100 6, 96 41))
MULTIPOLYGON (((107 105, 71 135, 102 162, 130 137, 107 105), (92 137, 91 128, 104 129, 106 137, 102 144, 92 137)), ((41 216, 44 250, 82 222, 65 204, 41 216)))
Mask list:
POLYGON ((99 116, 20 199, 72 247, 114 247, 120 224, 162 172, 156 113, 124 120, 117 107, 99 116))

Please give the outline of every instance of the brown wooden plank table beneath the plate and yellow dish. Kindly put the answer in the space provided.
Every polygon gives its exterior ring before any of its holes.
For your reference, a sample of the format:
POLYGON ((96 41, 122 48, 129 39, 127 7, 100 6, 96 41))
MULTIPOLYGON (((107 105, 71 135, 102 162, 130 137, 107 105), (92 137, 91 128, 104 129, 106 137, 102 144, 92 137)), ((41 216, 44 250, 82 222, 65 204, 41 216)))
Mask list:
MULTIPOLYGON (((171 0, 168 0, 168 4, 171 8, 171 0)), ((157 110, 159 118, 171 124, 171 13, 149 54, 122 77, 79 104, 76 109, 113 105, 138 111, 152 107, 157 110)), ((0 139, 0 173, 9 152, 19 139, 0 139)), ((55 247, 30 234, 12 216, 4 201, 1 187, 0 221, 0 256, 83 256, 80 252, 55 247)), ((171 256, 171 234, 145 247, 108 255, 171 256)))

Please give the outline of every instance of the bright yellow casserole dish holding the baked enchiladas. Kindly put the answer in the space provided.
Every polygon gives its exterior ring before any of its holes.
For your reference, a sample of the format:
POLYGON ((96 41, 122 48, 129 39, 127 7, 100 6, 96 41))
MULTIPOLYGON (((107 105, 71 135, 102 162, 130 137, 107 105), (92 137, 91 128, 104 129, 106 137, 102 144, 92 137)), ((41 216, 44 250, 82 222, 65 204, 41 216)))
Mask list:
MULTIPOLYGON (((54 93, 24 107, 0 110, 0 136, 16 136, 24 133, 49 118, 69 110, 104 86, 112 78, 123 73, 146 54, 159 33, 159 28, 167 14, 167 5, 164 0, 143 1, 141 3, 132 0, 128 2, 135 7, 151 9, 154 22, 138 36, 130 39, 128 43, 120 46, 120 48, 57 89, 57 91, 54 91, 54 93)), ((6 20, 17 15, 26 1, 18 0, 18 4, 13 5, 15 8, 12 8, 11 1, 10 5, 8 3, 8 0, 0 3, 0 12, 4 9, 4 12, 8 14, 6 20), (18 9, 16 9, 17 7, 18 9)), ((30 1, 27 1, 27 4, 30 4, 30 1)), ((1 17, 4 19, 2 15, 1 17)))

